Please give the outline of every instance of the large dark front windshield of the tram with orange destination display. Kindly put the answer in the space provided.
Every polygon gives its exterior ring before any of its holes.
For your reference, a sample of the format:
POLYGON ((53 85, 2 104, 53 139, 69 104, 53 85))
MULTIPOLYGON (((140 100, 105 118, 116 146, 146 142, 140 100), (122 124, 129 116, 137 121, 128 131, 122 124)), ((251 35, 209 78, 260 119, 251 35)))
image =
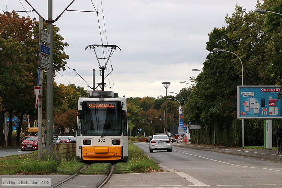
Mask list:
POLYGON ((82 102, 81 134, 119 136, 122 134, 121 102, 82 102))

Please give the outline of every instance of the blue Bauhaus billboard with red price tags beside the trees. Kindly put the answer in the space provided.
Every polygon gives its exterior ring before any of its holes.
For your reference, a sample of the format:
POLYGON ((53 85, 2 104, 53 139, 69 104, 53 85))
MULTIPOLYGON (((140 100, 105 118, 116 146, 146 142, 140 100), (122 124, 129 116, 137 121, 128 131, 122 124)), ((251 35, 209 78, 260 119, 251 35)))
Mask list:
POLYGON ((237 118, 282 118, 279 93, 280 86, 237 86, 237 118))

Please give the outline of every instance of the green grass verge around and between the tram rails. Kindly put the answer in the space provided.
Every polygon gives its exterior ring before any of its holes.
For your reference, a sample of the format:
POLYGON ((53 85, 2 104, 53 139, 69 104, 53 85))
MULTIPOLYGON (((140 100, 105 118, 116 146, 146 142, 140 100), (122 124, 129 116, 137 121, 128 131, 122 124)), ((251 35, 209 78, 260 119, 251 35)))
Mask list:
MULTIPOLYGON (((131 142, 128 146, 128 161, 117 163, 113 173, 159 172, 158 164, 149 159, 143 150, 131 142)), ((0 175, 9 174, 75 174, 85 163, 76 159, 61 159, 56 152, 42 152, 37 160, 37 151, 29 154, 0 157, 0 175)), ((80 174, 107 174, 110 163, 92 163, 80 174)))

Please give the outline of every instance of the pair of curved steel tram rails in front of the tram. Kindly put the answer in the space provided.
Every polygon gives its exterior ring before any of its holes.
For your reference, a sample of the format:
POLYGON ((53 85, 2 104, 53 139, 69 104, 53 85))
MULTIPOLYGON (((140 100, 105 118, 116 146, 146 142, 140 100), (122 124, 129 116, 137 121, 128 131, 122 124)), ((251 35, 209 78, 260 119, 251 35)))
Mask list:
MULTIPOLYGON (((79 170, 76 174, 70 175, 70 176, 67 177, 66 179, 64 179, 64 180, 62 180, 62 181, 56 183, 55 185, 53 185, 51 188, 57 188, 57 187, 59 187, 59 186, 65 184, 65 183, 67 183, 68 181, 75 179, 77 176, 79 176, 79 172, 80 172, 80 171, 85 170, 85 169, 86 169, 87 167, 89 167, 89 166, 90 166, 90 164, 85 165, 85 166, 84 166, 81 170, 79 170)), ((95 186, 95 188, 102 188, 102 187, 107 183, 107 181, 108 181, 108 180, 111 178, 111 176, 112 176, 112 172, 113 172, 113 170, 114 170, 114 167, 115 167, 115 164, 112 164, 112 165, 110 166, 110 172, 109 172, 109 174, 106 175, 106 176, 95 186)))

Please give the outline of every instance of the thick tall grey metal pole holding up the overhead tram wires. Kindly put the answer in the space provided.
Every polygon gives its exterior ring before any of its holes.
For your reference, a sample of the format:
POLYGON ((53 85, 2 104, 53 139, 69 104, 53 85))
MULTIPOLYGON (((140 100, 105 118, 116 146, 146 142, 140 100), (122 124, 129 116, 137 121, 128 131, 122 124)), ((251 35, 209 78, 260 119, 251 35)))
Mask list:
POLYGON ((53 144, 53 0, 48 0, 48 26, 50 33, 50 69, 47 71, 47 123, 46 123, 46 146, 52 149, 53 144))

